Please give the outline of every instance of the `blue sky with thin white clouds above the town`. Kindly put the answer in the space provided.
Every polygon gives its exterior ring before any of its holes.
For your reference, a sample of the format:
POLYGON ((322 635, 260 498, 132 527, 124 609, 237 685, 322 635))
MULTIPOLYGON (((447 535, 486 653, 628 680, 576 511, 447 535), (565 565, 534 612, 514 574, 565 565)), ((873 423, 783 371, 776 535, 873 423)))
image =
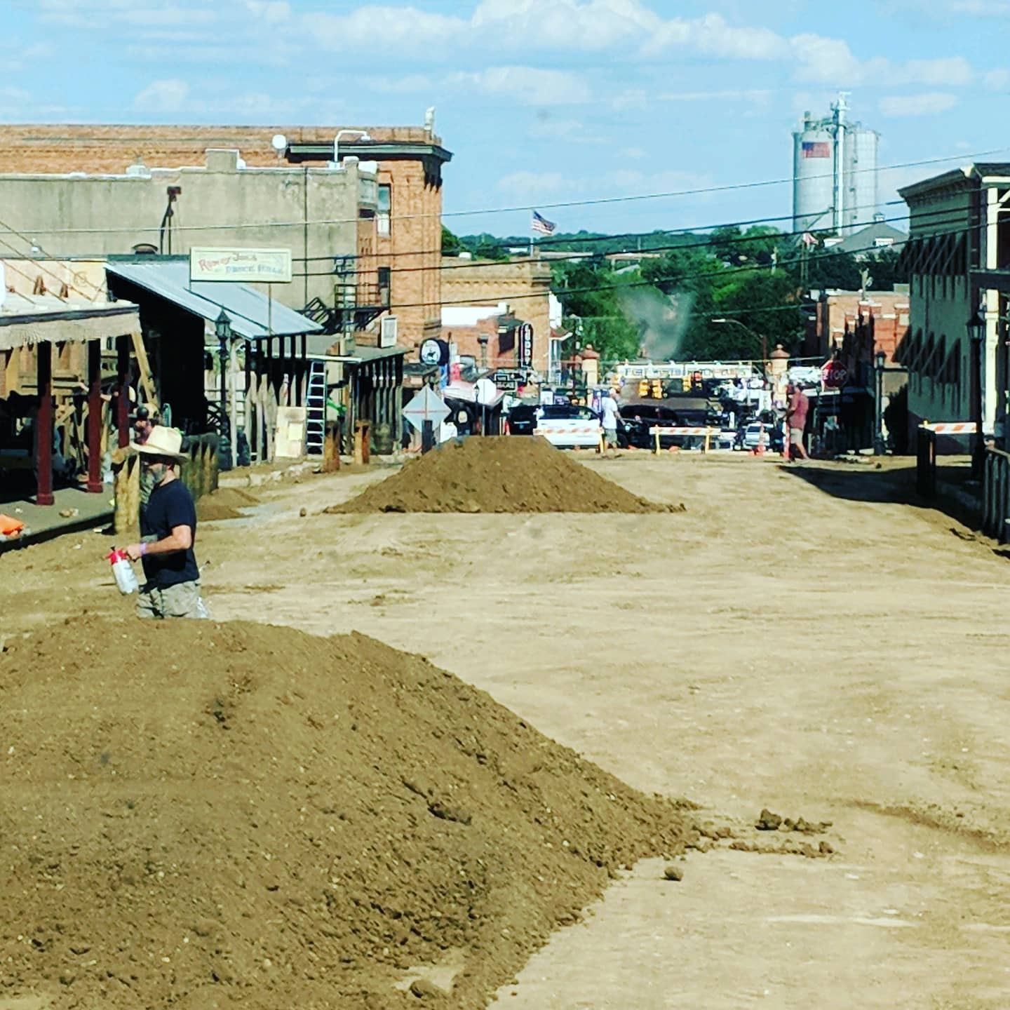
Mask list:
POLYGON ((546 207, 788 178, 800 113, 840 88, 882 165, 951 159, 885 173, 893 200, 1010 148, 1008 41, 1010 0, 0 0, 0 119, 419 125, 434 105, 449 215, 700 226, 788 215, 790 186, 546 207))

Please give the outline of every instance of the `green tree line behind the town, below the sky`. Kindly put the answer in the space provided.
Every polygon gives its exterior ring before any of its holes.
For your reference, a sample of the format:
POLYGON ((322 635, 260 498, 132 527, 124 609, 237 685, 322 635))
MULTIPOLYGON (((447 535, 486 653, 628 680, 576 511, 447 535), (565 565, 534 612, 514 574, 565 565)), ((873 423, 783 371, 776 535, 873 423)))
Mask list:
MULTIPOLYGON (((806 328, 802 305, 809 290, 858 291, 866 281, 868 288, 889 291, 907 281, 894 249, 861 259, 822 245, 806 251, 793 236, 766 225, 561 237, 563 242, 551 239, 551 249, 570 244, 571 251, 590 254, 551 263, 566 325, 581 345, 592 344, 611 361, 635 358, 643 346, 651 357, 699 361, 756 359, 777 343, 794 351, 806 328), (605 259, 639 248, 662 255, 630 267, 605 259), (658 326, 668 338, 650 346, 658 326)), ((488 233, 457 238, 443 229, 442 250, 505 259, 510 246, 528 241, 488 233)))

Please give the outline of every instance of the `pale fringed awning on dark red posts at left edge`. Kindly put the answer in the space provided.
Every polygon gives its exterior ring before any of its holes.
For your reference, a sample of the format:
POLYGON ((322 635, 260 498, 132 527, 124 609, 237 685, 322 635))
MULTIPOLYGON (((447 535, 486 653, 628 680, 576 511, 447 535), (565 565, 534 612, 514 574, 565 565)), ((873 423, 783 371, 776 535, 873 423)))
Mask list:
POLYGON ((132 302, 87 302, 8 291, 0 304, 0 350, 36 343, 101 340, 139 330, 140 320, 132 302))

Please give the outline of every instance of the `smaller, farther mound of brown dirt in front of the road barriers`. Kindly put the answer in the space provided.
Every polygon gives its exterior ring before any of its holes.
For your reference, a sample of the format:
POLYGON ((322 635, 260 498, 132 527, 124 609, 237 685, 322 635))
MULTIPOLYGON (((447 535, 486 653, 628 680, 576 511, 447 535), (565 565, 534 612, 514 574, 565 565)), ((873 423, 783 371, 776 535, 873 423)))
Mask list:
POLYGON ((666 512, 543 438, 442 442, 327 512, 666 512))

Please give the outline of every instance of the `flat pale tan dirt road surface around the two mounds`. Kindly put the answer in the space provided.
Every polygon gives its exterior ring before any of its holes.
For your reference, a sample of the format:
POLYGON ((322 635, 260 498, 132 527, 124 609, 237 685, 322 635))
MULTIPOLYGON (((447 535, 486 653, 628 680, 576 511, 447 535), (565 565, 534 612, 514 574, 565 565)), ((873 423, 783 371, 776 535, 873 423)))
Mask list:
MULTIPOLYGON (((214 616, 423 652, 723 820, 833 822, 830 860, 697 854, 680 884, 636 867, 509 1007, 1010 1005, 1006 559, 887 472, 590 465, 687 511, 322 515, 383 474, 318 478, 201 528, 214 616)), ((0 559, 0 633, 120 609, 105 550, 0 559)))

